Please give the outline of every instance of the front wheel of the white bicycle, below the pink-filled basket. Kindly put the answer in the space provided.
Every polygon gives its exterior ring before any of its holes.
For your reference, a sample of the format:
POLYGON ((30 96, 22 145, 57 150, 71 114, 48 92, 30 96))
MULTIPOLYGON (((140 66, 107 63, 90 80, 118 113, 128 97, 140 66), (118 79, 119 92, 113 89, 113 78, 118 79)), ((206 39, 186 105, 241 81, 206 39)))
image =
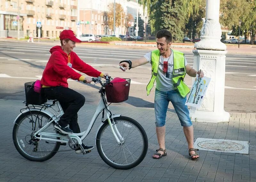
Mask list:
POLYGON ((148 137, 143 127, 134 119, 120 116, 114 118, 118 132, 123 138, 119 145, 108 122, 99 129, 96 146, 102 160, 116 169, 131 169, 142 162, 148 151, 148 137))

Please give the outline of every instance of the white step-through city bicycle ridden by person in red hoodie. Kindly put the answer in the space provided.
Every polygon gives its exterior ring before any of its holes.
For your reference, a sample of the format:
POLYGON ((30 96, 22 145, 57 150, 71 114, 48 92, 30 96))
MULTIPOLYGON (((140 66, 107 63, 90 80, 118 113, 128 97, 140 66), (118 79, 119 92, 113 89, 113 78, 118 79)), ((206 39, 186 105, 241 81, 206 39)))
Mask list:
MULTIPOLYGON (((52 104, 28 105, 14 121, 12 138, 20 155, 31 161, 46 161, 59 150, 60 145, 68 145, 71 150, 81 148, 82 140, 90 133, 93 124, 102 112, 102 124, 99 126, 95 142, 102 160, 116 169, 131 169, 142 162, 148 151, 148 137, 143 127, 134 119, 112 115, 109 110, 105 87, 110 79, 100 83, 100 102, 92 116, 86 131, 63 135, 54 129, 54 124, 63 115, 59 101, 52 104), (57 105, 58 110, 52 106, 57 105), (104 120, 104 111, 107 119, 104 120)), ((24 102, 25 103, 25 102, 24 102)), ((65 150, 63 150, 65 151, 65 150)))

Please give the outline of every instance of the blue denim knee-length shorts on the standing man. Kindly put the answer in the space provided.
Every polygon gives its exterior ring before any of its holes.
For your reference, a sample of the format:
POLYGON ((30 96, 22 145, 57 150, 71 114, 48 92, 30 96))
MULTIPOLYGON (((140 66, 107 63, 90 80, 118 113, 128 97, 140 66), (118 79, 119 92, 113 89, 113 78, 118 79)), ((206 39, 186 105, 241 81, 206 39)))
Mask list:
POLYGON ((188 106, 185 105, 187 97, 183 98, 177 89, 171 91, 159 91, 156 89, 155 93, 155 115, 156 115, 156 127, 165 125, 166 112, 169 102, 172 105, 178 115, 181 126, 189 127, 192 125, 189 117, 188 106))

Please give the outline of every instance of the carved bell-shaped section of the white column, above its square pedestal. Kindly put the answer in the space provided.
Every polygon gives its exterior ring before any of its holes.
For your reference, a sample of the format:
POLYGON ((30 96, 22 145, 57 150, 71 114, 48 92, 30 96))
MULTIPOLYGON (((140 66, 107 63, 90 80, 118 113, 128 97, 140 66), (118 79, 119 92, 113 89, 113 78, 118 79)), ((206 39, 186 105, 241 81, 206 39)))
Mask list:
POLYGON ((204 21, 201 29, 201 41, 195 43, 196 49, 205 50, 226 50, 227 46, 220 42, 221 28, 220 22, 215 19, 202 19, 204 21))

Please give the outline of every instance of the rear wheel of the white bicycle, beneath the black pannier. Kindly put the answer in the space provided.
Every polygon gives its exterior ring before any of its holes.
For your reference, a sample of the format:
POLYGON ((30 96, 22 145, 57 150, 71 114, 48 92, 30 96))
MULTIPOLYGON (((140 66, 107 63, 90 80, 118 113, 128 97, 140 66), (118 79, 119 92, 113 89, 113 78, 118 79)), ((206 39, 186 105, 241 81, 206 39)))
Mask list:
MULTIPOLYGON (((15 122, 12 140, 20 155, 30 161, 42 162, 52 158, 60 148, 60 142, 39 140, 34 133, 49 121, 50 116, 39 111, 23 113, 15 122)), ((54 122, 43 132, 56 133, 54 122)), ((58 139, 58 137, 55 137, 58 139)))

